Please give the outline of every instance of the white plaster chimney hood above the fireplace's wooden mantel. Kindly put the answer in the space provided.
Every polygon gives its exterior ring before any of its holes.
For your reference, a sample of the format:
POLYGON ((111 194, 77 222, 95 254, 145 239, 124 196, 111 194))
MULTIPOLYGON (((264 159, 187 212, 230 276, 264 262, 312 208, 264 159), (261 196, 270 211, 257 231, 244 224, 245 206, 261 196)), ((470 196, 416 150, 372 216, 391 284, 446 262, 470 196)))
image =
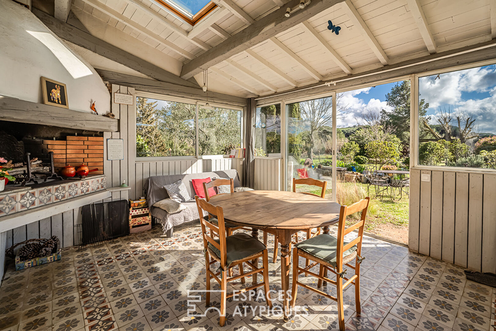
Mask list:
POLYGON ((0 94, 42 102, 44 76, 67 85, 69 108, 100 114, 110 110, 110 93, 100 76, 70 50, 31 11, 0 0, 0 94))

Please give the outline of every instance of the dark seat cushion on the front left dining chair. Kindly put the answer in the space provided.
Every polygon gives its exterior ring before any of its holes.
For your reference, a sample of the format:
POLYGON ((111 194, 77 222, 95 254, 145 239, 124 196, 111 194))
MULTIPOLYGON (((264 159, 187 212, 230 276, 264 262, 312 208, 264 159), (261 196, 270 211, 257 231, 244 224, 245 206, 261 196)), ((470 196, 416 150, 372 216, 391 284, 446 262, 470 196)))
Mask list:
MULTIPOLYGON (((214 239, 219 243, 219 239, 214 239)), ((211 243, 208 243, 210 248, 218 258, 220 251, 211 243)), ((265 249, 265 245, 246 233, 237 233, 226 237, 227 265, 231 265, 234 261, 248 258, 249 256, 261 252, 265 249)))

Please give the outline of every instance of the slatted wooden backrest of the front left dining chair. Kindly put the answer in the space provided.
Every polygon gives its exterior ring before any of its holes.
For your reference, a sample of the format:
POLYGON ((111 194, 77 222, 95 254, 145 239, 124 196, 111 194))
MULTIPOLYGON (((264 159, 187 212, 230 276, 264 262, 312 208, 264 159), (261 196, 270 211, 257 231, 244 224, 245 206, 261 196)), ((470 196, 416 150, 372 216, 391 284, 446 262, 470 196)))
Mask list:
MULTIPOLYGON (((227 264, 227 249, 226 249, 226 227, 224 225, 224 211, 221 206, 214 206, 207 201, 194 196, 196 200, 196 207, 198 208, 198 215, 200 216, 201 224, 201 234, 203 235, 203 247, 207 249, 208 243, 212 244, 215 248, 220 251, 221 266, 224 268, 227 264), (217 216, 217 224, 210 222, 210 218, 205 219, 203 217, 203 210, 208 214, 217 216), (207 234, 207 228, 210 233, 215 232, 215 235, 219 237, 219 243, 217 243, 210 235, 207 234)), ((208 262, 208 261, 207 261, 208 262)))

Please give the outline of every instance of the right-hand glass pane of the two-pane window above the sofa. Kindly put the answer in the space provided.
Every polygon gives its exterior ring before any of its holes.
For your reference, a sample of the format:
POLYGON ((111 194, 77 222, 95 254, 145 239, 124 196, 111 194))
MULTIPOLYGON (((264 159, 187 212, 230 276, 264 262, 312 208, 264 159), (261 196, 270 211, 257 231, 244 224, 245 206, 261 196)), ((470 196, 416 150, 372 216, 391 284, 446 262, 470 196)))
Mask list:
POLYGON ((241 147, 241 112, 199 106, 198 154, 229 154, 235 147, 241 147))

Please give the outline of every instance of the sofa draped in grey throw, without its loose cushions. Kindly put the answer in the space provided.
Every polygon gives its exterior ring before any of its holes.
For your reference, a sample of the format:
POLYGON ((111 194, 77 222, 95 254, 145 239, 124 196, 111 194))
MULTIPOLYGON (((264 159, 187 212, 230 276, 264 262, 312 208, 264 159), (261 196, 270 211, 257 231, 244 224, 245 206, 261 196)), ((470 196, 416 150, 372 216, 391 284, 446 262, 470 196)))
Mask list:
MULTIPOLYGON (((155 222, 162 224, 162 229, 167 237, 172 237, 174 226, 198 220, 198 209, 194 200, 195 192, 191 180, 202 178, 233 178, 234 187, 240 185, 240 179, 236 169, 228 169, 213 172, 202 172, 198 174, 184 174, 184 175, 165 175, 165 176, 152 176, 148 177, 143 186, 144 195, 150 207, 150 213, 155 222), (183 202, 186 209, 176 213, 168 213, 167 211, 154 207, 153 204, 157 201, 169 198, 167 191, 162 187, 164 185, 172 184, 181 180, 189 193, 189 201, 183 202)), ((205 213, 206 215, 206 213, 205 213)), ((204 216, 205 216, 204 215, 204 216)))

